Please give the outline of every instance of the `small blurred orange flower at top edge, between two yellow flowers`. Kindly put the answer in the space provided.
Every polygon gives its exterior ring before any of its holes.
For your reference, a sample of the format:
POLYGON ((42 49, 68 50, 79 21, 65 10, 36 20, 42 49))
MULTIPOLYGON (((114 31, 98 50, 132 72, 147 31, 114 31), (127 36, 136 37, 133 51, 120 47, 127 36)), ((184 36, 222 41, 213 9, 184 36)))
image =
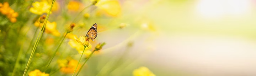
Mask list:
POLYGON ((78 1, 70 1, 68 4, 68 9, 72 11, 78 11, 80 8, 80 2, 78 1))

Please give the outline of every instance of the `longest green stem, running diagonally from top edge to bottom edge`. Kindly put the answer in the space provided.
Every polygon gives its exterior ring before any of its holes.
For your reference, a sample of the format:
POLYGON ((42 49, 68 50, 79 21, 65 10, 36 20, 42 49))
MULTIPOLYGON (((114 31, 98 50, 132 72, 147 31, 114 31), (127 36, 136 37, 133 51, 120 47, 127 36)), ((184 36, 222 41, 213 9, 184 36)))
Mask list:
POLYGON ((49 16, 50 16, 50 12, 51 12, 51 10, 52 10, 52 7, 53 7, 54 2, 55 2, 55 0, 52 1, 52 6, 50 7, 50 10, 49 10, 49 12, 48 12, 48 14, 47 14, 47 16, 46 16, 45 21, 44 21, 43 27, 41 28, 41 31, 39 32, 39 34, 38 34, 38 36, 37 36, 36 43, 34 44, 34 47, 33 47, 32 52, 31 52, 31 54, 30 54, 30 58, 28 59, 28 63, 27 63, 27 65, 26 65, 26 69, 25 69, 25 71, 24 71, 23 76, 26 76, 26 73, 27 73, 27 70, 28 70, 28 66, 30 65, 30 62, 31 62, 31 60, 32 60, 32 58, 33 58, 33 55, 34 55, 34 52, 36 51, 36 47, 37 47, 37 45, 38 45, 40 39, 42 38, 42 34, 43 34, 44 28, 45 28, 45 26, 46 26, 46 23, 47 23, 47 21, 48 21, 48 18, 49 18, 49 16))

